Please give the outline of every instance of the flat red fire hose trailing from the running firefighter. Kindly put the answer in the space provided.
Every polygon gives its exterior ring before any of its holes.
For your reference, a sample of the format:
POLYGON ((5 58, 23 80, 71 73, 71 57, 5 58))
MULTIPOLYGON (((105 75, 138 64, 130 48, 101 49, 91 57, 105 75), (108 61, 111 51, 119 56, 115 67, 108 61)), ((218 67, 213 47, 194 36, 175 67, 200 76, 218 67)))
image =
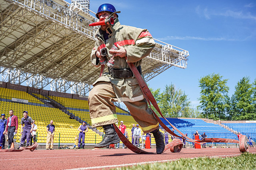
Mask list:
MULTIPOLYGON (((113 47, 112 47, 113 48, 113 47)), ((194 140, 194 139, 190 139, 188 136, 185 136, 182 132, 180 132, 180 130, 178 130, 174 125, 172 125, 161 113, 160 108, 157 105, 156 100, 154 99, 154 96, 152 95, 151 91, 148 88, 148 85, 145 83, 145 81, 143 80, 143 78, 141 77, 139 71, 137 70, 136 66, 134 65, 134 63, 128 62, 128 65, 131 69, 131 71, 133 72, 134 77, 137 79, 138 84, 140 85, 140 89, 143 92, 143 95, 145 97, 145 99, 148 102, 148 105, 150 106, 151 111, 153 112, 154 116, 156 117, 157 121, 159 122, 159 124, 163 127, 163 129, 165 129, 168 133, 170 133, 172 136, 181 138, 186 140, 187 142, 193 142, 193 143, 197 143, 197 144, 205 144, 205 143, 209 143, 209 142, 214 142, 214 143, 238 143, 239 144, 239 150, 241 152, 247 152, 248 146, 247 146, 247 137, 244 135, 240 135, 239 137, 239 141, 238 140, 234 140, 234 139, 225 139, 225 138, 204 138, 202 140, 194 140), (181 136, 178 136, 177 134, 175 134, 172 130, 169 129, 169 127, 167 127, 162 121, 161 119, 157 116, 157 114, 153 111, 153 109, 151 108, 151 104, 154 106, 154 108, 157 110, 157 112, 162 116, 163 119, 165 119, 169 125, 171 125, 171 127, 173 129, 175 129, 181 136)), ((101 65, 101 73, 100 73, 100 77, 102 76, 102 73, 104 71, 105 68, 105 64, 101 65)), ((137 147, 135 147, 133 144, 131 144, 131 142, 121 133, 121 131, 119 130, 119 128, 116 127, 115 124, 113 124, 116 130, 116 133, 118 134, 119 138, 122 140, 122 142, 125 144, 125 146, 127 146, 130 150, 132 150, 134 153, 138 153, 138 154, 145 154, 145 153, 151 153, 151 152, 146 152, 144 150, 141 150, 137 147)), ((179 140, 180 141, 180 140, 179 140)), ((180 152, 181 148, 182 148, 182 142, 179 142, 178 140, 173 140, 172 142, 170 142, 169 144, 167 144, 165 146, 165 150, 170 149, 171 152, 180 152)))

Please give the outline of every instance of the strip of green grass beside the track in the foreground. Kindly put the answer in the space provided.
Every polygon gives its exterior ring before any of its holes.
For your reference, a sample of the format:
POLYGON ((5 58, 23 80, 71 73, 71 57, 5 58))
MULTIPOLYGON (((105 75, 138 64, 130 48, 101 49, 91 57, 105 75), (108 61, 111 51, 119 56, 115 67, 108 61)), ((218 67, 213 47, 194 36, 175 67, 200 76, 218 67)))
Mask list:
POLYGON ((118 167, 112 170, 256 170, 256 154, 242 153, 227 158, 178 159, 165 163, 118 167))

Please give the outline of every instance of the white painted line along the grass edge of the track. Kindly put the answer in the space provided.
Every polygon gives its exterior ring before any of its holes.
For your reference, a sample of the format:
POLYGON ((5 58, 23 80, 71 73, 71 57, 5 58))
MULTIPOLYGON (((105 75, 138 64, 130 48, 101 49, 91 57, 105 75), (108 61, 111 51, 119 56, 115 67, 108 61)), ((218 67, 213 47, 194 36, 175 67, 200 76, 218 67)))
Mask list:
MULTIPOLYGON (((215 157, 222 157, 222 156, 238 156, 240 154, 232 154, 232 155, 219 155, 219 156, 203 156, 203 157, 195 157, 190 159, 196 158, 215 158, 215 157)), ((184 158, 183 158, 184 159, 184 158)), ((96 166, 96 167, 80 167, 80 168, 73 168, 73 169, 66 169, 66 170, 91 170, 91 169, 102 169, 102 168, 113 168, 113 167, 126 167, 126 166, 133 166, 133 165, 141 165, 141 164, 152 164, 157 162, 168 162, 168 161, 176 161, 178 159, 169 159, 169 160, 162 160, 162 161, 148 161, 148 162, 139 162, 139 163, 131 163, 131 164, 116 164, 116 165, 105 165, 105 166, 96 166)))

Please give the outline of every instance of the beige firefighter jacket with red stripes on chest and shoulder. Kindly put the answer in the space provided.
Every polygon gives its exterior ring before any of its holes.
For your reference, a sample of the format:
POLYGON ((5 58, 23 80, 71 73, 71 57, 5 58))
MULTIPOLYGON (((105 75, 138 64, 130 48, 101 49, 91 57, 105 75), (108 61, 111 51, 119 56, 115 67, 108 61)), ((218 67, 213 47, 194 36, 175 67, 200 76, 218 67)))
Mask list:
MULTIPOLYGON (((106 42, 104 42, 103 34, 100 34, 100 30, 96 32, 97 39, 91 53, 91 62, 96 67, 99 67, 100 63, 95 53, 102 44, 105 44, 108 49, 108 58, 112 57, 109 54, 109 50, 113 44, 116 45, 117 43, 125 48, 127 60, 125 57, 114 57, 114 68, 129 68, 127 62, 134 62, 135 66, 139 66, 142 59, 148 56, 155 46, 155 42, 148 30, 120 25, 118 18, 116 18, 114 26, 108 26, 106 31, 109 34, 109 39, 106 42)), ((109 73, 104 73, 93 85, 102 81, 113 84, 118 102, 136 102, 144 99, 135 77, 113 78, 109 73)))

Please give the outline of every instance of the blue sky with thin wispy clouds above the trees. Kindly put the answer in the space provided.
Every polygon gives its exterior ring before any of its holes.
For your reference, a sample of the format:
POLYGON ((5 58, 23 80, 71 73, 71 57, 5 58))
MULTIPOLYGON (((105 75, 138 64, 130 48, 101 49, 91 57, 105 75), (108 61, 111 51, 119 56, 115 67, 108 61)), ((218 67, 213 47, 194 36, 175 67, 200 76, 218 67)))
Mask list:
POLYGON ((256 79, 255 0, 90 0, 96 12, 111 3, 123 25, 146 28, 163 42, 189 51, 186 69, 171 67, 147 83, 161 91, 171 83, 199 105, 199 79, 220 74, 229 95, 243 77, 256 79))

